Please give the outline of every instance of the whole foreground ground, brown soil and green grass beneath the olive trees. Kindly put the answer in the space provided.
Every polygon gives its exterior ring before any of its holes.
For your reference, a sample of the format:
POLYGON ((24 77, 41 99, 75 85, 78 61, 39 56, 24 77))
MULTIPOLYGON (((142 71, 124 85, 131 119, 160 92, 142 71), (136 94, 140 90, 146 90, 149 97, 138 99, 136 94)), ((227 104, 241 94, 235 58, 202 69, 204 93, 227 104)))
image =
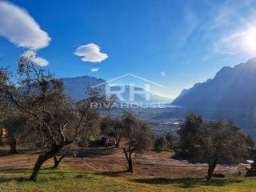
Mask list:
POLYGON ((256 178, 243 178, 245 165, 218 166, 226 178, 206 182, 206 164, 170 158, 171 152, 149 151, 134 157, 134 174, 126 173, 122 150, 81 149, 58 170, 46 169, 28 182, 39 152, 6 154, 0 149, 0 191, 256 191, 256 178), (239 177, 241 174, 241 177, 239 177))

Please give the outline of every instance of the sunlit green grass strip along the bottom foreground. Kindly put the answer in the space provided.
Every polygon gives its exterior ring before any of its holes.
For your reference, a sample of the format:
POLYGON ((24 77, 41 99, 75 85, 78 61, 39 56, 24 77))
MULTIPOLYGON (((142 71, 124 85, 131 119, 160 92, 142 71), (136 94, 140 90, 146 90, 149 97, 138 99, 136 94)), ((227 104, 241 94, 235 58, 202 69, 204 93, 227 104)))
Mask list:
POLYGON ((0 191, 256 191, 256 178, 134 179, 84 174, 72 170, 42 170, 38 182, 27 181, 31 170, 0 173, 0 191))

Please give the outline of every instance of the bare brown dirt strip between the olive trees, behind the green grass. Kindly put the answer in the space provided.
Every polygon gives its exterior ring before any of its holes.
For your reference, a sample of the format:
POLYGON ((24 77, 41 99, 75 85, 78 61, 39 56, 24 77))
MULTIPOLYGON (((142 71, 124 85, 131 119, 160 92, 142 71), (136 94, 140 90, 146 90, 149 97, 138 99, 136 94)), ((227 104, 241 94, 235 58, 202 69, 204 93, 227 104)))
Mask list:
MULTIPOLYGON (((1 152, 1 151, 0 151, 1 152)), ((170 158, 172 153, 155 153, 148 151, 143 155, 134 156, 134 174, 128 174, 126 159, 122 149, 86 148, 78 151, 76 157, 67 157, 62 165, 73 170, 87 173, 107 174, 111 176, 133 178, 203 178, 206 174, 206 164, 190 163, 186 160, 170 158)), ((26 152, 23 154, 1 155, 0 172, 14 169, 31 168, 38 158, 38 153, 26 152)), ((52 160, 46 163, 51 166, 52 160)), ((239 172, 245 174, 245 165, 218 166, 216 172, 229 177, 238 177, 239 172)))

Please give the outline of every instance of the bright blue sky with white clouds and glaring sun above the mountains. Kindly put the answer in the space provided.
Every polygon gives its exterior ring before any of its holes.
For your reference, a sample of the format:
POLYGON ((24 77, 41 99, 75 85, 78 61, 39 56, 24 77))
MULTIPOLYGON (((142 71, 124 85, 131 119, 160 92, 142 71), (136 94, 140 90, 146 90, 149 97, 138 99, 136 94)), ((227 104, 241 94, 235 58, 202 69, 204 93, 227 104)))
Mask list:
POLYGON ((20 54, 59 78, 134 74, 175 98, 256 56, 256 1, 0 0, 0 66, 20 54))

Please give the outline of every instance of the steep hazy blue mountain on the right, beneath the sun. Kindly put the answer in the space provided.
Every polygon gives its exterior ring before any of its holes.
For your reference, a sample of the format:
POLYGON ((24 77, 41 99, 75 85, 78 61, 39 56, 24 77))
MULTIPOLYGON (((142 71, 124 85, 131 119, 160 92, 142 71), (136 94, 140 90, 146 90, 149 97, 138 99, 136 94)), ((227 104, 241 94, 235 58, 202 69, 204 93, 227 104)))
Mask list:
POLYGON ((213 79, 182 90, 172 102, 207 118, 228 118, 256 136, 256 58, 225 66, 213 79))

